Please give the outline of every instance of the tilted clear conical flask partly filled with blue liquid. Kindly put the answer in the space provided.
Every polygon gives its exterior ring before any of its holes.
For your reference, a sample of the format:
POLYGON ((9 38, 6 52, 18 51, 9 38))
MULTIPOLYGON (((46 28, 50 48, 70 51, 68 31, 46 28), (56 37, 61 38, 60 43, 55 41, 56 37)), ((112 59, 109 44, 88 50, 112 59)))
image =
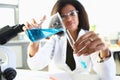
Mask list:
POLYGON ((26 31, 28 38, 32 42, 37 42, 64 30, 59 13, 56 13, 50 18, 46 19, 41 26, 41 28, 33 28, 26 31))

